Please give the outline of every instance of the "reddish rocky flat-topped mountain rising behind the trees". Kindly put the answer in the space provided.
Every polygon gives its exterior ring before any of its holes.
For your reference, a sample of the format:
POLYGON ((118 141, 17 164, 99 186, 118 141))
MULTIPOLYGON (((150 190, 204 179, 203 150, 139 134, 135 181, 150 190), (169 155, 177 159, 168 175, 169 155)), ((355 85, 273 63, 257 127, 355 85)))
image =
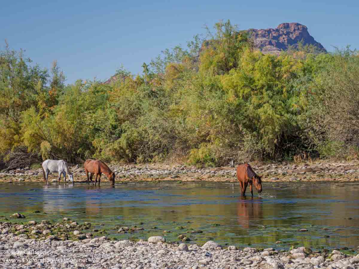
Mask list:
POLYGON ((279 53, 301 41, 303 45, 311 44, 319 51, 326 52, 322 44, 309 34, 308 28, 300 23, 281 23, 275 29, 248 29, 248 32, 253 38, 255 47, 263 53, 279 53))

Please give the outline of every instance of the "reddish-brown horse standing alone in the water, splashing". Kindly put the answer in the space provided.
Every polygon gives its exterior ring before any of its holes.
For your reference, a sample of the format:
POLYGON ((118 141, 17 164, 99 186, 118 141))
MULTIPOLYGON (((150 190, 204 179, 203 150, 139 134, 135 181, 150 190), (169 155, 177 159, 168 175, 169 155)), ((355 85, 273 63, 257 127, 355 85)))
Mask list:
POLYGON ((253 196, 252 185, 258 190, 258 193, 262 192, 262 180, 252 169, 249 164, 241 164, 237 167, 237 179, 241 184, 242 196, 246 194, 248 184, 250 184, 251 194, 253 196))

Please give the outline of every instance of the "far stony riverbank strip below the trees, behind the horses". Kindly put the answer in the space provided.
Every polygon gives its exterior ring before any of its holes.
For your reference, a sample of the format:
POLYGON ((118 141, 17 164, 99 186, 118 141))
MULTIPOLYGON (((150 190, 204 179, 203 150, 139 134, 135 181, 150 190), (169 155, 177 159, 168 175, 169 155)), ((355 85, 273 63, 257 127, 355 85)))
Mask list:
MULTIPOLYGON (((358 162, 318 161, 311 164, 289 164, 286 162, 273 164, 251 164, 263 181, 359 181, 358 162)), ((213 181, 236 182, 235 167, 196 168, 184 165, 109 165, 116 173, 116 182, 126 181, 213 181)), ((81 165, 70 167, 75 182, 87 180, 81 165)), ((56 182, 57 174, 51 174, 49 181, 56 182)), ((42 182, 42 169, 10 170, 0 173, 0 182, 42 182)), ((63 182, 63 179, 61 179, 63 182)), ((102 176, 102 182, 108 182, 102 176)))

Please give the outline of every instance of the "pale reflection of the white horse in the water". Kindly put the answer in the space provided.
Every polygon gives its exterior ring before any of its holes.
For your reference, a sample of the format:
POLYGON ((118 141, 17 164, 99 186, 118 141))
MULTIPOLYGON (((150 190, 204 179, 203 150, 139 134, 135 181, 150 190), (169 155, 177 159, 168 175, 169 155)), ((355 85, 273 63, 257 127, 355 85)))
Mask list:
POLYGON ((43 187, 43 211, 44 212, 63 212, 68 211, 73 206, 73 200, 67 195, 59 192, 67 192, 72 189, 72 185, 44 185, 43 187))

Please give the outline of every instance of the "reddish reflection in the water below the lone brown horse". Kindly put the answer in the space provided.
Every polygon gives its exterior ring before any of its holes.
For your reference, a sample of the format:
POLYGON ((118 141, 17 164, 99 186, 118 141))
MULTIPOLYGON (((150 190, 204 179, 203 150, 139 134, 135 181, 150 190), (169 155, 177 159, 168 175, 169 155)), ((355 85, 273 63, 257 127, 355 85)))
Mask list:
POLYGON ((250 228, 251 221, 262 218, 263 212, 260 199, 245 196, 238 199, 237 221, 243 228, 250 228))

